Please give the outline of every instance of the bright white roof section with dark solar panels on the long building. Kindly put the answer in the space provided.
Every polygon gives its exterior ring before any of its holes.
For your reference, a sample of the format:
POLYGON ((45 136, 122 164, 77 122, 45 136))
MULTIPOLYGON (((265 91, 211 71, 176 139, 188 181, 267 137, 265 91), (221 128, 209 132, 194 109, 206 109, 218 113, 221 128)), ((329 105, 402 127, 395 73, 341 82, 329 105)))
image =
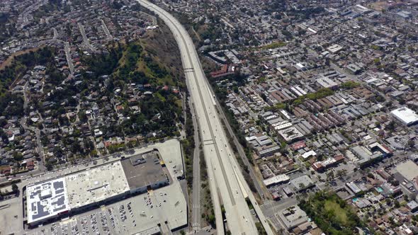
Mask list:
POLYGON ((64 178, 28 186, 26 205, 29 224, 67 212, 69 201, 64 178))

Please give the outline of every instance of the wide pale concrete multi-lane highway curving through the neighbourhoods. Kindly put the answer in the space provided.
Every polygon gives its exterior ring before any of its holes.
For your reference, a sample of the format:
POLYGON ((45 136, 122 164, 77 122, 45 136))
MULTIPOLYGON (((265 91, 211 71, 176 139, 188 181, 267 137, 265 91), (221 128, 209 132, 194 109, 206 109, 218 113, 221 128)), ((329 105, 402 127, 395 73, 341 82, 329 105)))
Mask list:
POLYGON ((225 207, 225 217, 231 234, 258 234, 245 201, 247 196, 252 200, 267 234, 273 234, 242 176, 241 169, 227 141, 227 135, 220 122, 220 114, 216 109, 215 96, 206 82, 193 41, 176 18, 148 1, 137 1, 150 11, 154 11, 169 26, 179 45, 191 101, 196 108, 218 234, 224 234, 220 205, 225 207))

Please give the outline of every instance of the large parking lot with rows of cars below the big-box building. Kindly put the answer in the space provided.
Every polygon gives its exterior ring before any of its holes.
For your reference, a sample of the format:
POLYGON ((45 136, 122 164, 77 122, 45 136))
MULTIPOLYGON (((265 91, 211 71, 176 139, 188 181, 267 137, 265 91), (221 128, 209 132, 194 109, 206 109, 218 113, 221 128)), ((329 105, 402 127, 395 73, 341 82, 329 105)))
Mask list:
POLYGON ((186 211, 180 183, 175 181, 150 193, 31 229, 28 234, 135 234, 146 229, 158 229, 164 234, 164 231, 187 224, 186 211))

